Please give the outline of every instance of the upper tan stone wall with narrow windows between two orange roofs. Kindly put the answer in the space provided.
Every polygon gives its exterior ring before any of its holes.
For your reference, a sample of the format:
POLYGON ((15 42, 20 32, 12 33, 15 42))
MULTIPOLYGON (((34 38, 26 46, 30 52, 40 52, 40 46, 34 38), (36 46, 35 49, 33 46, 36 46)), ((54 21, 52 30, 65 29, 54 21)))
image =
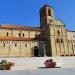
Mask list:
POLYGON ((35 38, 35 34, 39 35, 40 31, 35 30, 20 30, 20 29, 2 29, 0 28, 0 37, 23 37, 23 38, 35 38))

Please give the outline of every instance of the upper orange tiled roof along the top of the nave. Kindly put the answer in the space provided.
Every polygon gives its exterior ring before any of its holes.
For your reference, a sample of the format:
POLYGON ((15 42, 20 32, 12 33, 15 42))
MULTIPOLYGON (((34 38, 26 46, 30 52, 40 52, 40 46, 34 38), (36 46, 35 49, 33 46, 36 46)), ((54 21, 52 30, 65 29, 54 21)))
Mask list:
POLYGON ((31 26, 17 26, 13 24, 1 24, 0 28, 8 28, 8 29, 27 29, 27 30, 34 30, 34 31, 42 31, 40 27, 31 27, 31 26))

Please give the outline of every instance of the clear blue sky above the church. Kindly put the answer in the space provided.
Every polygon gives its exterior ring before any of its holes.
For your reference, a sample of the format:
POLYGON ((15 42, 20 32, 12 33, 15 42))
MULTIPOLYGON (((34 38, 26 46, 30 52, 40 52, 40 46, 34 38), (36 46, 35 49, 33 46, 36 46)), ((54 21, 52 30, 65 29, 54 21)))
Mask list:
POLYGON ((0 0, 0 23, 40 26, 39 9, 45 3, 67 29, 75 30, 75 0, 0 0))

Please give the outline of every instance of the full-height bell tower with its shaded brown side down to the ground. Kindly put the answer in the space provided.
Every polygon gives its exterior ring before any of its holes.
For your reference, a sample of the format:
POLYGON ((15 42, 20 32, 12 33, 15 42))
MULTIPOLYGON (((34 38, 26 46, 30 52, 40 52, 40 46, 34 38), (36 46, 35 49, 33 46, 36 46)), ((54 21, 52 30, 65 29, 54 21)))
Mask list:
POLYGON ((49 24, 54 24, 54 9, 45 4, 40 9, 40 28, 43 30, 43 38, 47 41, 46 55, 52 56, 49 24))

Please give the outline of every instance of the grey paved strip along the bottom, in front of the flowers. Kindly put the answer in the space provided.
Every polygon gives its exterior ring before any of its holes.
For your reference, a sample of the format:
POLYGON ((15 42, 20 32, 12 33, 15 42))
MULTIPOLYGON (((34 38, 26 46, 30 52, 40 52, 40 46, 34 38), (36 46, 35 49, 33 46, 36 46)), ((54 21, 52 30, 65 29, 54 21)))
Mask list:
POLYGON ((32 69, 21 71, 0 71, 0 75, 75 75, 75 69, 32 69))

